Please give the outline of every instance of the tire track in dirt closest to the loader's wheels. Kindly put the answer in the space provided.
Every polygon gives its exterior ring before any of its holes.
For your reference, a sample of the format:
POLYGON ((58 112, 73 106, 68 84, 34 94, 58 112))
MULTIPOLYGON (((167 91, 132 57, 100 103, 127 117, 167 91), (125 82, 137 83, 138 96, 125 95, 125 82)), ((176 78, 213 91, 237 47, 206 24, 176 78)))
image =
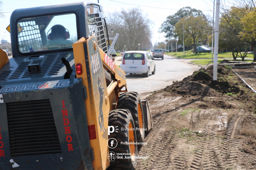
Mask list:
POLYGON ((170 152, 175 148, 175 132, 170 130, 170 120, 174 117, 176 116, 170 115, 170 112, 153 116, 154 127, 144 141, 147 142, 147 147, 142 147, 139 151, 140 156, 148 156, 148 159, 138 160, 137 169, 168 169, 172 166, 170 152))

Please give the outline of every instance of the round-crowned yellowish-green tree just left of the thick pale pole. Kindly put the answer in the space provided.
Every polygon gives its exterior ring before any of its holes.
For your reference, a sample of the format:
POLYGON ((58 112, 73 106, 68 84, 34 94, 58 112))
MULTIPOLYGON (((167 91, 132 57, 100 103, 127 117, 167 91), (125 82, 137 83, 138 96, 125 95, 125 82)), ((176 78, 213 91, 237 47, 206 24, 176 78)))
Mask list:
POLYGON ((174 33, 179 37, 183 37, 183 27, 184 27, 184 38, 185 44, 193 44, 193 49, 197 54, 196 46, 197 41, 204 41, 207 39, 207 35, 211 30, 210 25, 208 24, 207 19, 204 16, 189 16, 180 19, 180 22, 175 24, 174 33))

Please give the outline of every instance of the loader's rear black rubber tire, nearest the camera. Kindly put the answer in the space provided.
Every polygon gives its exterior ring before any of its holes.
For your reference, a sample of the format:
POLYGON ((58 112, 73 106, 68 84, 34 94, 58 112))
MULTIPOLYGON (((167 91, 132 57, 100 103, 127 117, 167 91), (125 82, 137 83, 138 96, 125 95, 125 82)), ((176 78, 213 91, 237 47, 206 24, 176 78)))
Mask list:
MULTIPOLYGON (((108 126, 118 126, 113 133, 110 133, 108 139, 114 138, 117 140, 117 147, 116 148, 109 148, 109 151, 112 151, 117 156, 117 153, 129 154, 130 146, 128 144, 121 144, 129 142, 129 122, 133 124, 133 128, 135 129, 133 117, 129 110, 126 109, 116 109, 109 112, 108 118, 108 126), (118 129, 118 130, 117 130, 118 129)), ((110 141, 109 141, 110 142, 110 141)), ((137 146, 137 139, 136 134, 134 134, 134 142, 135 142, 135 156, 138 157, 138 146, 137 146)), ((110 143, 109 143, 110 145, 110 143)), ((126 155, 129 156, 129 155, 126 155)), ((124 157, 124 156, 123 156, 124 157)), ((115 160, 110 162, 110 166, 108 170, 133 170, 136 169, 138 163, 138 159, 134 161, 132 159, 122 159, 115 157, 115 160)))

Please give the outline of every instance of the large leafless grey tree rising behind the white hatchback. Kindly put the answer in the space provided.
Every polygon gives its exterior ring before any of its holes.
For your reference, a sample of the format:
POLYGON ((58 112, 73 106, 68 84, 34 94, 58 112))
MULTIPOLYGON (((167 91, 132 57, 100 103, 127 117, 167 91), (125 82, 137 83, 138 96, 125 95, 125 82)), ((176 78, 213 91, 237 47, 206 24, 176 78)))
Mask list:
POLYGON ((117 50, 148 50, 152 48, 151 21, 139 8, 115 11, 107 17, 109 36, 119 33, 117 50), (140 44, 140 45, 138 45, 140 44))

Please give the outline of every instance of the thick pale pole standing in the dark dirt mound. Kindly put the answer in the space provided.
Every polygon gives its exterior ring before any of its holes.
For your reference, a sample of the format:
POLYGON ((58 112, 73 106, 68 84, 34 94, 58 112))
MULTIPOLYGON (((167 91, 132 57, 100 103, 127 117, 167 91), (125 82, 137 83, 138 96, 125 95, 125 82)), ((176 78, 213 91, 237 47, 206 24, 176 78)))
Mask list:
POLYGON ((213 80, 217 80, 218 48, 219 48, 219 23, 220 23, 220 0, 216 1, 215 38, 214 38, 214 63, 213 80))

